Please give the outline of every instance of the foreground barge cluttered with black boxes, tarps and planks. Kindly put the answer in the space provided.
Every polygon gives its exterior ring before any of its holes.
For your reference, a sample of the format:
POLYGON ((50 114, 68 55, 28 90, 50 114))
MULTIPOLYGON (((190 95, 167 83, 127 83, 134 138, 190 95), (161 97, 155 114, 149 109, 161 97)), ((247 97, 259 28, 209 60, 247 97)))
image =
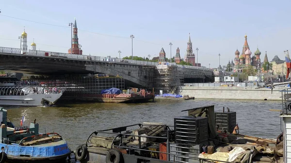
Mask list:
POLYGON ((214 106, 183 110, 174 126, 145 122, 95 131, 75 157, 81 163, 283 163, 283 133, 277 139, 243 135, 236 112, 214 106))

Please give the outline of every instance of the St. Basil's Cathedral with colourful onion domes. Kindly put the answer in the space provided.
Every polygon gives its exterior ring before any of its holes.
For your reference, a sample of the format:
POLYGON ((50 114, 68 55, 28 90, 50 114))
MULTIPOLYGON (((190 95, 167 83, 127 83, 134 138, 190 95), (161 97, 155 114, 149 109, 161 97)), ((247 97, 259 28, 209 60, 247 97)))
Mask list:
POLYGON ((241 70, 242 68, 245 68, 247 66, 254 66, 254 68, 258 69, 261 67, 261 61, 259 56, 261 55, 261 52, 259 51, 259 48, 257 47, 257 50, 255 51, 255 54, 251 57, 252 52, 250 50, 250 47, 247 43, 247 36, 244 36, 244 44, 242 46, 242 55, 240 56, 240 52, 237 49, 235 51, 235 58, 234 58, 234 69, 241 70))

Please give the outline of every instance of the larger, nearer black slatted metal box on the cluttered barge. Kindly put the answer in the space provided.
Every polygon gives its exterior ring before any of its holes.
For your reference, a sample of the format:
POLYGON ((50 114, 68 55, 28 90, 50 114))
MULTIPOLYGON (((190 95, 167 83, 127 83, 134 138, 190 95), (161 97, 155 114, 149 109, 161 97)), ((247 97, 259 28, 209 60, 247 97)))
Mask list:
POLYGON ((208 141, 208 118, 183 116, 174 118, 175 143, 200 144, 208 141))

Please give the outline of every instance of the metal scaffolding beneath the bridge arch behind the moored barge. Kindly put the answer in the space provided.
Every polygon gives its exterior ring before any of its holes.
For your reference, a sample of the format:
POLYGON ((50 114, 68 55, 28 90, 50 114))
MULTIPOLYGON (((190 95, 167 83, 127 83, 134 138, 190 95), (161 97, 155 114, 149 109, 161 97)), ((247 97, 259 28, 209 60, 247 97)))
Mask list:
POLYGON ((22 78, 22 81, 38 82, 48 89, 65 89, 62 97, 93 97, 100 95, 103 89, 125 89, 124 78, 107 74, 31 76, 22 78))

